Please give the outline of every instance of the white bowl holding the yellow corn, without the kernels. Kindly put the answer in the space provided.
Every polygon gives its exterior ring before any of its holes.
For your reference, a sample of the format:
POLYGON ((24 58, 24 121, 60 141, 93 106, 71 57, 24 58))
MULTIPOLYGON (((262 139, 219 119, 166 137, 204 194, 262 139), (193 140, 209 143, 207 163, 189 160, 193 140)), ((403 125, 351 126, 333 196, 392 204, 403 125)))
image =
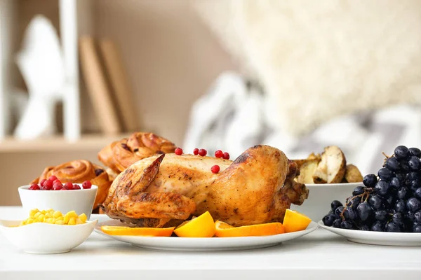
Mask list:
POLYGON ((81 225, 32 223, 17 227, 21 221, 0 220, 0 232, 25 253, 67 253, 85 241, 98 220, 81 225))

